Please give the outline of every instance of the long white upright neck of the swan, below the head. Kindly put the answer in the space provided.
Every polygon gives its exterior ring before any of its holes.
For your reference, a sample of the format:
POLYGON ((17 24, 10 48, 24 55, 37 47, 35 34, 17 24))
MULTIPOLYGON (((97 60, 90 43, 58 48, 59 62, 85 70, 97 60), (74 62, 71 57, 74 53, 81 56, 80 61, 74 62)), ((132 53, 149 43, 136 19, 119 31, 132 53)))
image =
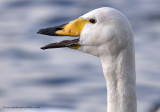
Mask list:
POLYGON ((137 112, 134 52, 101 57, 107 85, 107 112, 137 112))

